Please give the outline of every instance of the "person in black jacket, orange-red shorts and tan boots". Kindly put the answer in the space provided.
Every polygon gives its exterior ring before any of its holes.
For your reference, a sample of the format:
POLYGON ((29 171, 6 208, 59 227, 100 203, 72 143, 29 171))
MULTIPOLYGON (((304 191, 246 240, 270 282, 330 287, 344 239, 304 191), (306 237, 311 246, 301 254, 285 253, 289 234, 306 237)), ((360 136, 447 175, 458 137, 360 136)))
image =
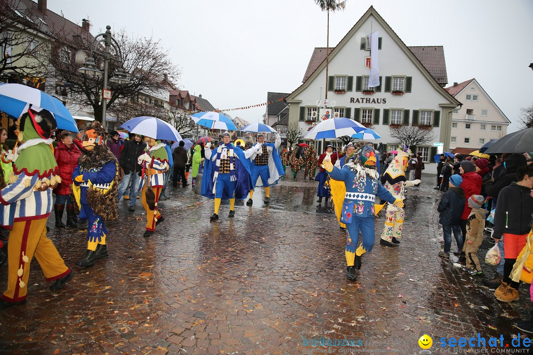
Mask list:
POLYGON ((526 245, 533 216, 533 166, 520 167, 516 171, 518 183, 504 187, 498 195, 494 213, 494 234, 496 242, 503 236, 505 263, 502 284, 494 295, 498 301, 518 300, 519 283, 510 278, 516 257, 526 245))

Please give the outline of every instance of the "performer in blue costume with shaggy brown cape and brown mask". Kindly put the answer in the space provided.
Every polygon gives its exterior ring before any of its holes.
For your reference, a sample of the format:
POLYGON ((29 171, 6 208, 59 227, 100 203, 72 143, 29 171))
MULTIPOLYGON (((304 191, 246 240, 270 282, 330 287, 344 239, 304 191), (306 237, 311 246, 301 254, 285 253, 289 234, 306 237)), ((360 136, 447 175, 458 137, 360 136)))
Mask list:
POLYGON ((106 145, 106 130, 94 121, 83 137, 84 152, 72 172, 74 208, 79 218, 87 220, 87 250, 78 266, 92 266, 107 257, 104 222, 118 218, 117 192, 119 167, 115 154, 106 145))

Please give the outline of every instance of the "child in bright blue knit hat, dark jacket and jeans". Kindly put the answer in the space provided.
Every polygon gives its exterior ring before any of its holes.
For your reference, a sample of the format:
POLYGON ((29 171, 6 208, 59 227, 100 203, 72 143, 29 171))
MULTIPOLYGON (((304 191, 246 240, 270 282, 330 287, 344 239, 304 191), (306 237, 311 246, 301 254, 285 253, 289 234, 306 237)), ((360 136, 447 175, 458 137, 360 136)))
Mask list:
POLYGON ((454 232, 457 249, 463 247, 461 234, 461 215, 465 205, 465 194, 459 186, 463 183, 461 175, 452 175, 449 183, 451 187, 442 195, 437 211, 440 212, 439 223, 444 233, 444 251, 439 252, 439 257, 449 259, 451 249, 451 232, 454 232))

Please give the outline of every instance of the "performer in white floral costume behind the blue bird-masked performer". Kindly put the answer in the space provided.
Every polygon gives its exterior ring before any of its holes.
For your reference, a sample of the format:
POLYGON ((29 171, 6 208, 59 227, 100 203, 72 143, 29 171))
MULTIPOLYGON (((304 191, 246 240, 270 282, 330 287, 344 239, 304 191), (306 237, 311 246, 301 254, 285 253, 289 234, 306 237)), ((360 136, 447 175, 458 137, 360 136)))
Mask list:
MULTIPOLYGON (((403 194, 405 187, 420 184, 420 180, 407 180, 405 177, 409 153, 409 151, 405 152, 398 149, 398 154, 392 159, 381 178, 381 183, 398 200, 405 199, 405 195, 403 194)), ((400 244, 404 218, 405 212, 403 208, 394 204, 387 205, 385 227, 381 233, 379 244, 391 247, 397 247, 400 244)))

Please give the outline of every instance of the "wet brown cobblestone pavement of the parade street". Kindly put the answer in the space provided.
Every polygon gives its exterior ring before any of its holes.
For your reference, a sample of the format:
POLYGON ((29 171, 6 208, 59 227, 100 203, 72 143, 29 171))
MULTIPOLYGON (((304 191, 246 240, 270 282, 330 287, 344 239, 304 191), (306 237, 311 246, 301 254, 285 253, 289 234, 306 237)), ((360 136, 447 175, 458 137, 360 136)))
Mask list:
MULTIPOLYGON (((235 218, 223 203, 215 223, 211 200, 169 186, 165 221, 150 238, 141 203, 128 212, 121 202, 120 221, 108 224, 109 257, 90 268, 74 264, 85 232, 55 229, 50 218, 49 236, 75 277, 52 292, 33 261, 27 303, 0 310, 0 353, 414 354, 423 334, 433 353, 451 353, 437 349, 440 337, 510 340, 513 321, 530 311, 529 287, 518 303, 499 303, 480 277, 437 256, 440 193, 433 175, 423 179, 407 190, 400 247, 379 245, 377 221, 357 282, 345 278, 344 232, 317 205, 317 183, 300 175, 271 189, 269 208, 259 189, 253 207, 237 203, 235 218), (303 346, 303 337, 362 345, 303 346)), ((489 246, 487 237, 480 259, 489 246)), ((2 290, 6 272, 4 264, 2 290)))

